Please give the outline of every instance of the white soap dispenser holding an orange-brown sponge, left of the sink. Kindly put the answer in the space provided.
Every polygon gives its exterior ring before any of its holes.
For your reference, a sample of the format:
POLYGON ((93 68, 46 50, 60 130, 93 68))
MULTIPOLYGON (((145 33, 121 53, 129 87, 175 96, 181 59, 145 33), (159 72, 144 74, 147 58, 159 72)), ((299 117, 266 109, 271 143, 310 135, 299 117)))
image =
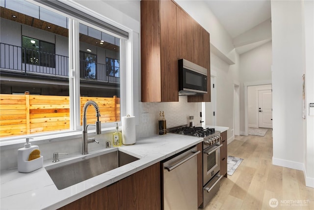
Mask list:
POLYGON ((31 146, 29 138, 26 138, 24 148, 18 150, 18 171, 29 173, 43 167, 43 163, 38 146, 31 146))

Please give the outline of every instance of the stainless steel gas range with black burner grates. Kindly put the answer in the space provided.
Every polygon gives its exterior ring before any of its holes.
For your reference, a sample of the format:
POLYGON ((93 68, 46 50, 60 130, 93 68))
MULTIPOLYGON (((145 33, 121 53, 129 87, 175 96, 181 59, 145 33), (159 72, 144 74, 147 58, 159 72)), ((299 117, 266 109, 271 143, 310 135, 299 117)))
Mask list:
POLYGON ((220 131, 214 128, 179 126, 168 130, 169 133, 178 133, 202 137, 203 140, 203 203, 206 207, 211 198, 218 191, 220 180, 220 131))

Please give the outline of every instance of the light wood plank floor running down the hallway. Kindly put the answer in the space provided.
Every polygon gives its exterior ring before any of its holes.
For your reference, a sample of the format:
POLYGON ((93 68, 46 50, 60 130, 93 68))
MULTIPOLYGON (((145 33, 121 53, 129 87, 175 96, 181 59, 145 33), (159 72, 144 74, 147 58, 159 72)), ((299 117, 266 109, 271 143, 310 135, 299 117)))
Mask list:
POLYGON ((232 176, 222 179, 205 209, 314 210, 314 188, 305 186, 303 172, 272 165, 272 153, 271 130, 264 137, 236 136, 228 155, 243 161, 232 176), (271 199, 277 199, 277 207, 270 207, 271 199))

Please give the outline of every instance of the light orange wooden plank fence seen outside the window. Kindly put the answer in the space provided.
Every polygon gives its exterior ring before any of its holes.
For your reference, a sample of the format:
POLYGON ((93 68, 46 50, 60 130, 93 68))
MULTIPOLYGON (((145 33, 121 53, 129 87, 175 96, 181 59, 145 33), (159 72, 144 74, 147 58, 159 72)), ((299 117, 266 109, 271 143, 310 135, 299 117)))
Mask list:
MULTIPOLYGON (((120 121, 120 98, 80 97, 80 112, 88 100, 95 101, 100 121, 120 121)), ((87 123, 97 120, 93 106, 87 109, 87 123)), ((81 122, 82 123, 82 122, 81 122)), ((0 137, 70 129, 70 97, 53 95, 0 94, 0 137)))

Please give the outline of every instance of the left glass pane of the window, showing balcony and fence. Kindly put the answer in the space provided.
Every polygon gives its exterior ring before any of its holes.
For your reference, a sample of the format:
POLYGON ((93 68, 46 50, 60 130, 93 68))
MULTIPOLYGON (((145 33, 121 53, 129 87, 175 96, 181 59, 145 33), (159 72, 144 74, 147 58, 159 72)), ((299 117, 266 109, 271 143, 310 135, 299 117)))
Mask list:
POLYGON ((25 0, 5 2, 0 13, 0 137, 70 129, 68 18, 25 0), (40 11, 58 21, 52 23, 47 15, 41 19, 40 11))

